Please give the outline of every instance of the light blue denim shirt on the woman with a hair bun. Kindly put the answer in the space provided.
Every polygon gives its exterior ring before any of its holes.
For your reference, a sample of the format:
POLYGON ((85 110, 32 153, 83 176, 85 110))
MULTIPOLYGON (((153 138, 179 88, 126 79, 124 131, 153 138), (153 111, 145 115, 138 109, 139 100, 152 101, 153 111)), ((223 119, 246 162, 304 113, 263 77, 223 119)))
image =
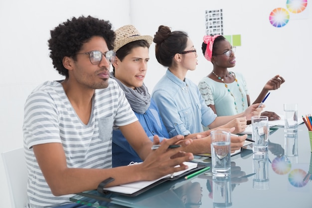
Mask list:
POLYGON ((170 137, 202 132, 203 126, 217 117, 196 84, 186 78, 180 80, 169 70, 154 87, 152 97, 170 137))

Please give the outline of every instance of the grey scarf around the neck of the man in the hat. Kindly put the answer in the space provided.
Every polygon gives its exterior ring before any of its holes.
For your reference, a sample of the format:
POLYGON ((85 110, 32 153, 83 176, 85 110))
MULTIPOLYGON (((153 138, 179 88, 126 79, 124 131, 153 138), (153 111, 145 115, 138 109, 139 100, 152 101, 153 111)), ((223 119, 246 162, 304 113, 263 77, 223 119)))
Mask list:
POLYGON ((113 71, 111 72, 110 77, 116 80, 122 90, 124 90, 126 98, 133 111, 144 114, 149 109, 151 105, 151 95, 144 83, 141 87, 137 87, 134 90, 116 79, 113 71))

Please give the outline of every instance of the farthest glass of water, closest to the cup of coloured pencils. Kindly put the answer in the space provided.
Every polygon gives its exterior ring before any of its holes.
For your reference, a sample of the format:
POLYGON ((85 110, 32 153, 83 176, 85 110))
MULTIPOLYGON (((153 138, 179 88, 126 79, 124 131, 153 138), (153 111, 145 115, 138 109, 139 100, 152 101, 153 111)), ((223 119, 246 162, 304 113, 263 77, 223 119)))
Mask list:
POLYGON ((285 134, 298 133, 298 104, 284 104, 285 134))

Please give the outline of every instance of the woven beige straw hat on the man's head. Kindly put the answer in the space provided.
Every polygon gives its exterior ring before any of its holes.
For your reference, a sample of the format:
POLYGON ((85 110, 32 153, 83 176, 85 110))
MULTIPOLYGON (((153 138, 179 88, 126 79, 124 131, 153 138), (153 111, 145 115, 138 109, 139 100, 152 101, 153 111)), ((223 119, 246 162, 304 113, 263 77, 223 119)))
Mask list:
POLYGON ((151 35, 141 35, 140 32, 130 24, 116 29, 115 33, 115 52, 124 45, 136 40, 146 40, 149 44, 152 44, 153 41, 153 37, 151 35))

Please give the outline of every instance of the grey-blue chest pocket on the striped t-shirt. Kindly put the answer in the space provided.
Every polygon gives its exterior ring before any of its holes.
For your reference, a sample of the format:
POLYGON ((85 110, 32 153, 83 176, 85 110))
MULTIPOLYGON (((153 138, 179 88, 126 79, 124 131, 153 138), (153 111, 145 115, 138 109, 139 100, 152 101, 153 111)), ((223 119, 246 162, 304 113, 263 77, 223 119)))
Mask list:
POLYGON ((99 138, 106 142, 112 138, 113 135, 114 116, 113 114, 99 118, 99 138))

